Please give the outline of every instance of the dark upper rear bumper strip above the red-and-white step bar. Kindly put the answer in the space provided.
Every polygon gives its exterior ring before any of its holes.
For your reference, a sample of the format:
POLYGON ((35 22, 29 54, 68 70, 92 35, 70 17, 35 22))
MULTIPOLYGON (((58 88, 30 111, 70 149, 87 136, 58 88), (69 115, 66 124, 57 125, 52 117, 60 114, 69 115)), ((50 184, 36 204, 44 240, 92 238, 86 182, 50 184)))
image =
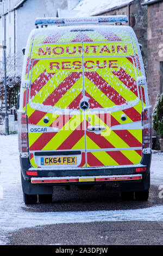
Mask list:
POLYGON ((145 172, 140 172, 142 178, 148 175, 151 166, 152 154, 143 154, 140 164, 131 166, 105 166, 89 168, 71 168, 71 169, 52 169, 52 168, 33 168, 30 164, 29 157, 20 157, 21 171, 24 180, 30 181, 32 177, 76 177, 76 176, 110 176, 110 175, 132 175, 139 174, 135 172, 136 168, 146 167, 145 172), (37 174, 37 175, 36 175, 37 174))

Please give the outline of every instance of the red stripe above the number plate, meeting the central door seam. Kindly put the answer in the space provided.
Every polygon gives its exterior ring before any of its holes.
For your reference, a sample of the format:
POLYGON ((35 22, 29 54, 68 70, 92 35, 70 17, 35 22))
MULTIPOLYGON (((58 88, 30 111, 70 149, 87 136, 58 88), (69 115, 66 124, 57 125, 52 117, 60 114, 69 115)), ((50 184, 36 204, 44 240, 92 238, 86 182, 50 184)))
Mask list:
MULTIPOLYGON (((84 136, 84 121, 59 146, 58 150, 71 149, 84 136)), ((65 131, 66 132, 66 131, 65 131)))

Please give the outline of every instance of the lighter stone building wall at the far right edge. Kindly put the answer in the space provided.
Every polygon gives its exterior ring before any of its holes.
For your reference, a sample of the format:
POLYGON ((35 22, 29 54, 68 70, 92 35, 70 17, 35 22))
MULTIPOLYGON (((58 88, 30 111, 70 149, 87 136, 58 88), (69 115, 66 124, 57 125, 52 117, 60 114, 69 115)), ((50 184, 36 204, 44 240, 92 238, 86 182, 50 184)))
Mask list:
MULTIPOLYGON (((148 94, 152 108, 161 92, 160 64, 163 62, 163 2, 148 5, 148 94)), ((163 92, 161 92, 163 93, 163 92)))

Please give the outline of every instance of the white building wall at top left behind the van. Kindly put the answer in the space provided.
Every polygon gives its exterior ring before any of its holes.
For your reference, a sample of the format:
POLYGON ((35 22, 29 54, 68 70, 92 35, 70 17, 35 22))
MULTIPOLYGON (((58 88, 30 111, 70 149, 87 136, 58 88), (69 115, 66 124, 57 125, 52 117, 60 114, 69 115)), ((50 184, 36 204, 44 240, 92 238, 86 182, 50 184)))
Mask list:
POLYGON ((12 56, 14 54, 15 41, 16 71, 21 74, 23 64, 22 48, 26 47, 28 35, 35 28, 36 17, 56 17, 57 8, 67 9, 68 0, 27 0, 22 7, 15 10, 14 34, 14 11, 12 9, 18 2, 20 0, 3 0, 1 4, 3 7, 0 9, 0 44, 6 44, 7 56, 12 56), (5 13, 7 14, 4 16, 3 14, 5 13))

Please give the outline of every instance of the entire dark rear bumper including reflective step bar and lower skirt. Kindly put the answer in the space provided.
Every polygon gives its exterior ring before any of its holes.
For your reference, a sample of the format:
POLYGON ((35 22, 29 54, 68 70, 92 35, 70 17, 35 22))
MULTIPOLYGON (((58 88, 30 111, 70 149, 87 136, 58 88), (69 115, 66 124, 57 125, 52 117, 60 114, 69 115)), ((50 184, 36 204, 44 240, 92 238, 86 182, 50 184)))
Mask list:
POLYGON ((58 170, 32 168, 28 157, 20 157, 23 192, 50 194, 53 193, 53 186, 110 184, 112 182, 120 185, 120 191, 147 190, 150 187, 151 156, 152 154, 143 154, 140 164, 136 166, 58 170), (144 172, 135 172, 136 168, 142 167, 146 167, 144 172), (28 172, 31 175, 27 175, 28 172))

